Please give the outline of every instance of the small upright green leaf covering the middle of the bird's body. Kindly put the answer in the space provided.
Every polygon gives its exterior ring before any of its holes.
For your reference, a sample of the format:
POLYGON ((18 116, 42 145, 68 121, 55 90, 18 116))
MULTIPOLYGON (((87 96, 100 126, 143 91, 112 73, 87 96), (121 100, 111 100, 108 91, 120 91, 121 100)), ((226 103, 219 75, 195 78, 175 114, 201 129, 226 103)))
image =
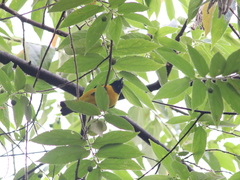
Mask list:
POLYGON ((102 110, 106 111, 109 107, 108 93, 102 86, 97 86, 95 95, 97 106, 102 110))

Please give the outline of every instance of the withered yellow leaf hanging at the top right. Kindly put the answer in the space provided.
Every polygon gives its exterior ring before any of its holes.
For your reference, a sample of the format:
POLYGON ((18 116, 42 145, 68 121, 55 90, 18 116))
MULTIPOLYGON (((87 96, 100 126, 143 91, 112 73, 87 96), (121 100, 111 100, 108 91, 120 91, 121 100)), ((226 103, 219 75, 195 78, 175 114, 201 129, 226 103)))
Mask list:
POLYGON ((203 9, 202 9, 202 23, 203 23, 203 27, 205 30, 205 36, 207 36, 207 34, 211 31, 212 28, 212 17, 213 17, 213 12, 216 8, 216 3, 211 7, 211 9, 208 9, 208 3, 205 3, 203 5, 203 9))

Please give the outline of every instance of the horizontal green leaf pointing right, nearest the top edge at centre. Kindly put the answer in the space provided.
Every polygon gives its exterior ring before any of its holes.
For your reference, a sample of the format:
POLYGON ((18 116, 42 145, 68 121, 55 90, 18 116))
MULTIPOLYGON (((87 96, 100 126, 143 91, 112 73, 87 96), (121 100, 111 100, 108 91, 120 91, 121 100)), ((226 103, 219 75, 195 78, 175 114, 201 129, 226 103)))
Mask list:
POLYGON ((118 7, 118 13, 128 14, 133 12, 141 12, 148 10, 148 7, 139 3, 124 3, 118 7))

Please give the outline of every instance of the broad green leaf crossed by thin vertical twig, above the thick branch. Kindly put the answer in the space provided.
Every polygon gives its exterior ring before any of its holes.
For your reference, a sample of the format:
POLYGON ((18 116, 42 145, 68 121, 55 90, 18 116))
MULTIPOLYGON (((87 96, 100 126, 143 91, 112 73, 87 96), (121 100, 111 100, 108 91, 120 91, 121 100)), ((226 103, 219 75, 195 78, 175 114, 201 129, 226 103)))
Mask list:
MULTIPOLYGON (((99 54, 87 54, 77 55, 77 67, 78 72, 85 72, 94 69, 104 58, 99 54)), ((73 57, 67 60, 60 68, 57 69, 59 72, 64 73, 75 73, 73 57)))

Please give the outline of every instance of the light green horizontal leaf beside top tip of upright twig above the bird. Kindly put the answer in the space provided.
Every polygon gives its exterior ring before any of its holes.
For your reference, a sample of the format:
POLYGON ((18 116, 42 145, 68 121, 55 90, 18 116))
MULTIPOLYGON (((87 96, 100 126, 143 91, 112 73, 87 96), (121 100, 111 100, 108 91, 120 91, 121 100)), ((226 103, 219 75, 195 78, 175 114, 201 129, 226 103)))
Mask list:
POLYGON ((159 45, 144 39, 120 40, 118 46, 113 49, 115 56, 131 54, 144 54, 158 48, 159 45))

